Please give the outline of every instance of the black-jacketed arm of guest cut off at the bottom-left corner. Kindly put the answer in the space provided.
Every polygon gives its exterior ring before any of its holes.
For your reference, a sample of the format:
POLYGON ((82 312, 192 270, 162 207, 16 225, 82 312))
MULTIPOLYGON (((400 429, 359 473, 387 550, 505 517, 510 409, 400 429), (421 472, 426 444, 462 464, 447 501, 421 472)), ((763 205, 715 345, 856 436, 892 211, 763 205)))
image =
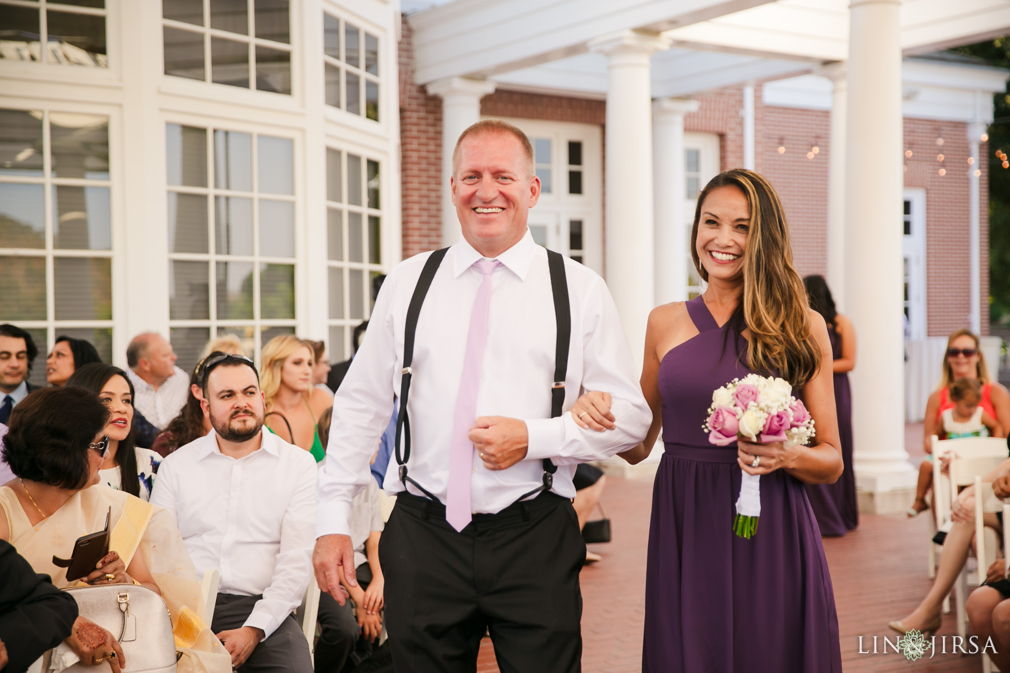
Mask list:
POLYGON ((74 596, 53 586, 8 542, 0 541, 0 670, 23 671, 71 636, 77 621, 74 596), (2 645, 0 645, 2 652, 2 645))

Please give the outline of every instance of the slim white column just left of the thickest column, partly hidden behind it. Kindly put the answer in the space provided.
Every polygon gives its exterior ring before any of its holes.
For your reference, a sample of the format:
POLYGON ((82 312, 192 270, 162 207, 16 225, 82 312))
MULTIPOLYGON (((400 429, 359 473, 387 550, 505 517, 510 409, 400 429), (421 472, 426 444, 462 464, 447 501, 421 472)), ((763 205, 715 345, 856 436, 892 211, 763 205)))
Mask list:
POLYGON ((845 63, 822 68, 834 83, 827 184, 827 284, 839 312, 845 312, 845 63))

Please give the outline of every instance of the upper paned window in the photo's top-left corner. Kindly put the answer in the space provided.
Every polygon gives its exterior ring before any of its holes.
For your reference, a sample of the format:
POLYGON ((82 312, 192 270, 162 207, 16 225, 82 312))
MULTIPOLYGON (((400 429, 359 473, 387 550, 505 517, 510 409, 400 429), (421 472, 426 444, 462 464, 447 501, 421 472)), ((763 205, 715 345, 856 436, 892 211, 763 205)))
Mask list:
POLYGON ((105 0, 0 1, 0 60, 108 68, 105 17, 105 0))

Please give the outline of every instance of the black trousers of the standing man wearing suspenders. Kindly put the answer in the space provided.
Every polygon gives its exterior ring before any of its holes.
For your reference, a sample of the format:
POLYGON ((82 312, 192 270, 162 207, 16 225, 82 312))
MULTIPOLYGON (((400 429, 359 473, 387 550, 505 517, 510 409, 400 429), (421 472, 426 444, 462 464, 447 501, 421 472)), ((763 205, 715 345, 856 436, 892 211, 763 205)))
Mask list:
POLYGON ((379 542, 397 673, 472 673, 490 633, 502 673, 578 673, 586 544, 553 493, 474 515, 458 533, 445 508, 401 492, 379 542))

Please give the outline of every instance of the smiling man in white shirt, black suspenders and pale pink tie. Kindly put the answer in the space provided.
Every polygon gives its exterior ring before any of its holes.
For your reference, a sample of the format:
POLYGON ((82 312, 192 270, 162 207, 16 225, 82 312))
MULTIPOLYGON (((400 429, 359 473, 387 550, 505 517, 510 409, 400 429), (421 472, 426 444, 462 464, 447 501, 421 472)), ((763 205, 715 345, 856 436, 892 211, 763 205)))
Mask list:
POLYGON ((337 566, 352 581, 350 500, 399 396, 398 453, 412 452, 386 472, 397 503, 380 542, 395 669, 475 671, 487 631, 505 673, 574 673, 586 546, 572 474, 637 445, 651 413, 603 281, 533 242, 540 181, 522 131, 467 129, 450 186, 463 240, 393 269, 336 394, 316 579, 338 601, 337 566), (581 389, 612 397, 612 429, 563 414, 581 389))

